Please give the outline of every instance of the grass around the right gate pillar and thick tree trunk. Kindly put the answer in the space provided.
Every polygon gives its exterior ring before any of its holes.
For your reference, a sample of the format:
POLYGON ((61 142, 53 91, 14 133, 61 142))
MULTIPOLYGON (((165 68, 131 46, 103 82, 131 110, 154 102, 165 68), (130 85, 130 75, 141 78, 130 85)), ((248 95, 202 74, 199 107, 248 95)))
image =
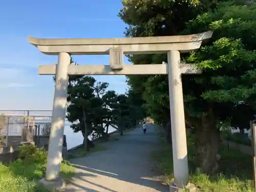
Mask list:
MULTIPOLYGON (((211 192, 251 192, 252 187, 252 157, 242 154, 237 150, 228 150, 226 146, 221 146, 220 154, 222 159, 219 162, 219 173, 215 175, 202 174, 196 169, 195 148, 192 137, 187 138, 188 144, 188 164, 190 182, 202 188, 199 191, 211 192)), ((154 159, 158 162, 161 173, 165 176, 165 182, 173 181, 173 157, 172 144, 165 142, 163 135, 160 135, 160 150, 153 152, 154 159)))

